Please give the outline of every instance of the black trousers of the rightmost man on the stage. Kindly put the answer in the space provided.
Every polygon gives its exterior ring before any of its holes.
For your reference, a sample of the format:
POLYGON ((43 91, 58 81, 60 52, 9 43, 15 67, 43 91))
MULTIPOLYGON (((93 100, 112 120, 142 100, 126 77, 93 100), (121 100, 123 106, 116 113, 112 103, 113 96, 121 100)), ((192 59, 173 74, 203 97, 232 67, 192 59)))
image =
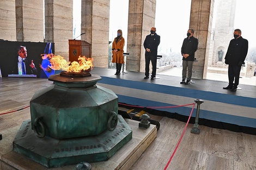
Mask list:
POLYGON ((239 85, 240 71, 241 71, 241 66, 228 65, 229 86, 234 86, 235 88, 237 88, 237 86, 239 85), (234 83, 234 80, 235 80, 235 83, 234 83))

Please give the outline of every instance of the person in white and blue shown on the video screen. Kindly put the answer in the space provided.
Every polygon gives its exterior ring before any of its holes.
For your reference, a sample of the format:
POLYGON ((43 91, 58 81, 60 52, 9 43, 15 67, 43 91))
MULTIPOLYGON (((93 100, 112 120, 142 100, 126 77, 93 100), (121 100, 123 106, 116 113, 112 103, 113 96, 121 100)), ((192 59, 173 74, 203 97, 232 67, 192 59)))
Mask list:
POLYGON ((27 58, 26 47, 19 46, 17 49, 17 53, 19 54, 17 62, 17 74, 36 74, 37 70, 35 68, 33 60, 27 58))

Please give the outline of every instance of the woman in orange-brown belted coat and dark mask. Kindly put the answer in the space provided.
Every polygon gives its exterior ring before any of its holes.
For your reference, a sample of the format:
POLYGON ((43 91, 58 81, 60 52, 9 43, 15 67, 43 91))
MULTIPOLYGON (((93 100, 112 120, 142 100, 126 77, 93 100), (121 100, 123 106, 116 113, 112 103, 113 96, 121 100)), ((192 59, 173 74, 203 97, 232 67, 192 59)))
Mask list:
POLYGON ((124 64, 124 45, 125 40, 123 37, 122 30, 117 31, 117 37, 115 37, 112 43, 112 62, 115 62, 115 66, 117 67, 117 72, 115 75, 120 75, 122 64, 124 64))

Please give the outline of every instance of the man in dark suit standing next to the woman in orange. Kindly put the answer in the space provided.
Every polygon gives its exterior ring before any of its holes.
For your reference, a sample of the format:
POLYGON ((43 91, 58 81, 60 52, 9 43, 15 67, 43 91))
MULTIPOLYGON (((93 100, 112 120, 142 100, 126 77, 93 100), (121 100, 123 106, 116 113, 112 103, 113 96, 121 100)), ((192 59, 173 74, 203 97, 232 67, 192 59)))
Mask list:
POLYGON ((154 80, 156 77, 156 60, 157 60, 157 47, 160 44, 160 36, 156 34, 156 28, 152 27, 150 34, 146 36, 143 46, 145 48, 145 77, 144 79, 149 78, 149 64, 151 60, 152 64, 152 73, 151 80, 154 80))

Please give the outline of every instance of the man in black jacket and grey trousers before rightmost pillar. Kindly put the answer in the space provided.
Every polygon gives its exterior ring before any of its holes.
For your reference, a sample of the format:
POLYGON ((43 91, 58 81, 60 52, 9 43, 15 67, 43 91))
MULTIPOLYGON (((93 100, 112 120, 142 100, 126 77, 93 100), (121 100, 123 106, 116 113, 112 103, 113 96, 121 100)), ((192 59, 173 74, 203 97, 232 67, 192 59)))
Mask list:
POLYGON ((190 84, 192 77, 192 67, 194 53, 197 51, 198 39, 194 37, 194 30, 188 29, 187 37, 184 39, 181 47, 182 54, 182 81, 180 84, 190 84), (188 74, 187 74, 188 71, 188 74), (187 81, 186 80, 187 75, 187 81))

